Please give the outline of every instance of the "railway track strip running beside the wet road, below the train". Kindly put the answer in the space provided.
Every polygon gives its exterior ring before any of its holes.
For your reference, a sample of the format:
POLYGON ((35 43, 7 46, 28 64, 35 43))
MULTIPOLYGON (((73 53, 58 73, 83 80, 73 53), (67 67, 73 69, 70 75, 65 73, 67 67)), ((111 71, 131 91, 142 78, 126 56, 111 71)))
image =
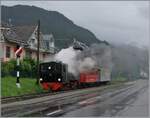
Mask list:
MULTIPOLYGON (((39 112, 41 110, 46 109, 52 109, 55 106, 59 106, 61 104, 72 104, 75 101, 80 101, 83 98, 89 98, 89 94, 92 93, 93 96, 98 92, 99 90, 108 90, 113 91, 113 87, 116 88, 122 88, 123 85, 111 85, 111 86, 104 86, 104 87, 92 87, 87 88, 84 90, 69 90, 69 91, 62 91, 62 92, 56 92, 56 93, 45 93, 47 95, 53 95, 50 97, 39 97, 31 100, 24 100, 24 101, 17 101, 13 103, 8 104, 2 104, 2 116, 26 116, 27 114, 33 114, 36 112, 39 112), (107 88, 107 89, 106 89, 107 88), (73 92, 74 91, 74 92, 73 92), (96 93, 95 93, 96 92, 96 93), (59 94, 64 93, 64 94, 59 94), (55 95, 54 95, 55 94, 55 95), (56 95, 57 94, 57 95, 56 95), (83 98, 81 99, 82 96, 83 98)), ((130 85, 124 85, 124 86, 130 86, 130 85)), ((103 91, 103 92, 104 92, 103 91)))

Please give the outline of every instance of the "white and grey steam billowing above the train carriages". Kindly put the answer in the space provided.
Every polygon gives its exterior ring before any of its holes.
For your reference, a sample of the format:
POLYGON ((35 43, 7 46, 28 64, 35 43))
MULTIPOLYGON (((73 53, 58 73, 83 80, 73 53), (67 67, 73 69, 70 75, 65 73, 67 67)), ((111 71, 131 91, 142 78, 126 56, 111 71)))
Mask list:
POLYGON ((61 61, 68 65, 68 71, 74 76, 95 67, 111 70, 111 50, 105 44, 93 44, 87 50, 74 50, 73 47, 62 49, 47 61, 61 61))

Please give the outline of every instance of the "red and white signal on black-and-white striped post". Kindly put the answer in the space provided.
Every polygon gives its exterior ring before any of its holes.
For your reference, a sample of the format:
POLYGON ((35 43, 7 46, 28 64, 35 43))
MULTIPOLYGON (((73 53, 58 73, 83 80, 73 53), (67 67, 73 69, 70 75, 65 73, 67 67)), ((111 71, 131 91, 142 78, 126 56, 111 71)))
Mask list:
POLYGON ((16 66, 16 67, 17 67, 17 70, 16 70, 16 72, 17 72, 17 74, 16 74, 16 76, 17 76, 16 86, 17 86, 18 88, 21 87, 21 86, 20 86, 20 81, 19 81, 19 78, 20 78, 19 67, 20 67, 20 55, 21 55, 21 53, 22 53, 22 49, 23 49, 23 47, 17 45, 16 50, 15 50, 15 55, 16 55, 16 60, 17 60, 17 66, 16 66))

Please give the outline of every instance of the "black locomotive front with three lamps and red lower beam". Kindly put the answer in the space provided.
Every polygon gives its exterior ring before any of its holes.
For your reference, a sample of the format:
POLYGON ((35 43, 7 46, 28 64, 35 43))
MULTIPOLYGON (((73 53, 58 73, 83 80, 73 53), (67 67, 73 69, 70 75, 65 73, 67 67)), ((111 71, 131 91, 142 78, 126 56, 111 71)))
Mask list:
POLYGON ((68 82, 68 67, 62 62, 46 62, 40 64, 40 83, 46 90, 60 90, 68 82))

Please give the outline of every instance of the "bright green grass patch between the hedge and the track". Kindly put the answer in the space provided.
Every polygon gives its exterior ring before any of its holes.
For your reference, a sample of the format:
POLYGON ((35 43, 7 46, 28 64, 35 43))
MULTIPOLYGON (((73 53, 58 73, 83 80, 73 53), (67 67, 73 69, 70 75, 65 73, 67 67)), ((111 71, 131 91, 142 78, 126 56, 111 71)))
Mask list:
POLYGON ((4 77, 1 79, 1 96, 18 96, 43 92, 42 87, 37 86, 35 82, 35 79, 20 78, 21 88, 17 88, 15 77, 4 77))

